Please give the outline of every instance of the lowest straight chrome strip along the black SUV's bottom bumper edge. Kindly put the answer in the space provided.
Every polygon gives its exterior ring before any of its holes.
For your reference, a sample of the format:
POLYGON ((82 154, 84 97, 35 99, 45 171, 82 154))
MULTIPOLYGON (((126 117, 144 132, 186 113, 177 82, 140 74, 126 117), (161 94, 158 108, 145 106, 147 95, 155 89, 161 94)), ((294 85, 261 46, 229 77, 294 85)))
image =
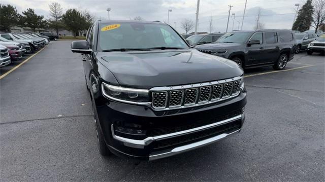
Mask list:
POLYGON ((166 153, 161 153, 161 154, 156 154, 156 155, 149 155, 149 161, 156 160, 156 159, 161 159, 161 158, 165 158, 165 157, 170 157, 170 156, 180 154, 180 153, 183 153, 183 152, 186 152, 186 151, 197 149, 197 148, 203 147, 205 145, 211 144, 213 142, 216 142, 218 140, 221 140, 223 138, 229 137, 230 135, 238 133, 239 131, 240 131, 240 129, 236 130, 234 132, 231 132, 231 133, 222 133, 220 135, 217 135, 217 136, 205 139, 205 140, 201 140, 201 141, 198 141, 198 142, 194 142, 194 143, 190 143, 190 144, 187 144, 187 145, 183 145, 181 147, 174 148, 173 150, 171 150, 169 152, 166 152, 166 153))

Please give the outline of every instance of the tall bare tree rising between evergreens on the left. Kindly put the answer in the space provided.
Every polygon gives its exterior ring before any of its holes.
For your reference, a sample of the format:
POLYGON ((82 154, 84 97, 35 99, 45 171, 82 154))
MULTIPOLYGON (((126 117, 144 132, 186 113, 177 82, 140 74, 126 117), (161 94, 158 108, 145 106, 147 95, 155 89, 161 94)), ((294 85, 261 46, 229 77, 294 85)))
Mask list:
POLYGON ((48 20, 48 23, 51 28, 54 28, 56 30, 56 34, 59 35, 59 29, 63 28, 64 26, 63 23, 61 22, 61 18, 63 14, 61 5, 58 3, 52 3, 49 4, 49 8, 50 8, 50 16, 52 18, 48 20))

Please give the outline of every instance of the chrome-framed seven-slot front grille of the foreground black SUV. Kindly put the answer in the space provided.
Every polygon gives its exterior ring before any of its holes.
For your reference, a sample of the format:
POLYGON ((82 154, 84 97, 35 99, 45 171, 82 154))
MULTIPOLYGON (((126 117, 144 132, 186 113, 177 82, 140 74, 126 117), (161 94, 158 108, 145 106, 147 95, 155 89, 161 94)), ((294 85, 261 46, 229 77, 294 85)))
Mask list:
POLYGON ((239 95, 242 77, 218 80, 213 82, 154 87, 152 92, 152 107, 156 111, 185 108, 209 104, 239 95))

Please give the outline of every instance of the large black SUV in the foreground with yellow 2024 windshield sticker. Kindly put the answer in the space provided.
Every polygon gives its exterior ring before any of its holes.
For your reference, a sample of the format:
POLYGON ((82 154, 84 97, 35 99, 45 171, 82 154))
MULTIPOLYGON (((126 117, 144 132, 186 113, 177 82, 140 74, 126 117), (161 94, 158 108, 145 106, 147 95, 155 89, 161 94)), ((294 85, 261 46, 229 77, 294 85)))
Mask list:
POLYGON ((242 68, 190 48, 165 23, 98 21, 71 50, 83 54, 104 156, 164 158, 242 128, 242 68))

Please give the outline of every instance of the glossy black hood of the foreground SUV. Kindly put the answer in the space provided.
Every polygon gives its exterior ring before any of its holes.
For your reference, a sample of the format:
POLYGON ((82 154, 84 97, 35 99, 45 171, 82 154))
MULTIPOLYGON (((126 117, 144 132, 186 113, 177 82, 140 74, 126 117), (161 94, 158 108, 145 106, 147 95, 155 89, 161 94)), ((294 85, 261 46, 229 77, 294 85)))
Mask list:
MULTIPOLYGON (((109 69, 121 86, 132 88, 209 82, 243 74, 235 62, 195 49, 99 52, 96 58, 101 63, 98 65, 109 69)), ((100 72, 100 75, 103 78, 108 74, 100 72)))

